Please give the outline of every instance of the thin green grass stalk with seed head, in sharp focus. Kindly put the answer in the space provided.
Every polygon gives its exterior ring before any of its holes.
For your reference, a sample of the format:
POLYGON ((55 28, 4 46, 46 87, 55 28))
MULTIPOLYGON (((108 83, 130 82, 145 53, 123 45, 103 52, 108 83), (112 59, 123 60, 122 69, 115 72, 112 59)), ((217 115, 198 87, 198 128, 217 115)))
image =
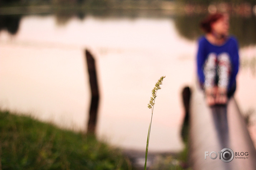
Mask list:
POLYGON ((146 145, 144 170, 146 170, 146 168, 147 168, 147 158, 148 158, 148 149, 149 149, 149 137, 150 137, 150 130, 151 130, 151 123, 152 123, 152 117, 153 117, 156 93, 157 93, 158 90, 161 89, 160 85, 163 83, 163 79, 164 78, 165 78, 165 76, 160 77, 160 79, 155 83, 155 87, 151 91, 152 92, 152 97, 150 97, 150 101, 149 101, 149 104, 148 104, 148 108, 151 109, 151 120, 150 120, 150 123, 149 123, 149 131, 148 131, 148 138, 147 138, 147 145, 146 145))

